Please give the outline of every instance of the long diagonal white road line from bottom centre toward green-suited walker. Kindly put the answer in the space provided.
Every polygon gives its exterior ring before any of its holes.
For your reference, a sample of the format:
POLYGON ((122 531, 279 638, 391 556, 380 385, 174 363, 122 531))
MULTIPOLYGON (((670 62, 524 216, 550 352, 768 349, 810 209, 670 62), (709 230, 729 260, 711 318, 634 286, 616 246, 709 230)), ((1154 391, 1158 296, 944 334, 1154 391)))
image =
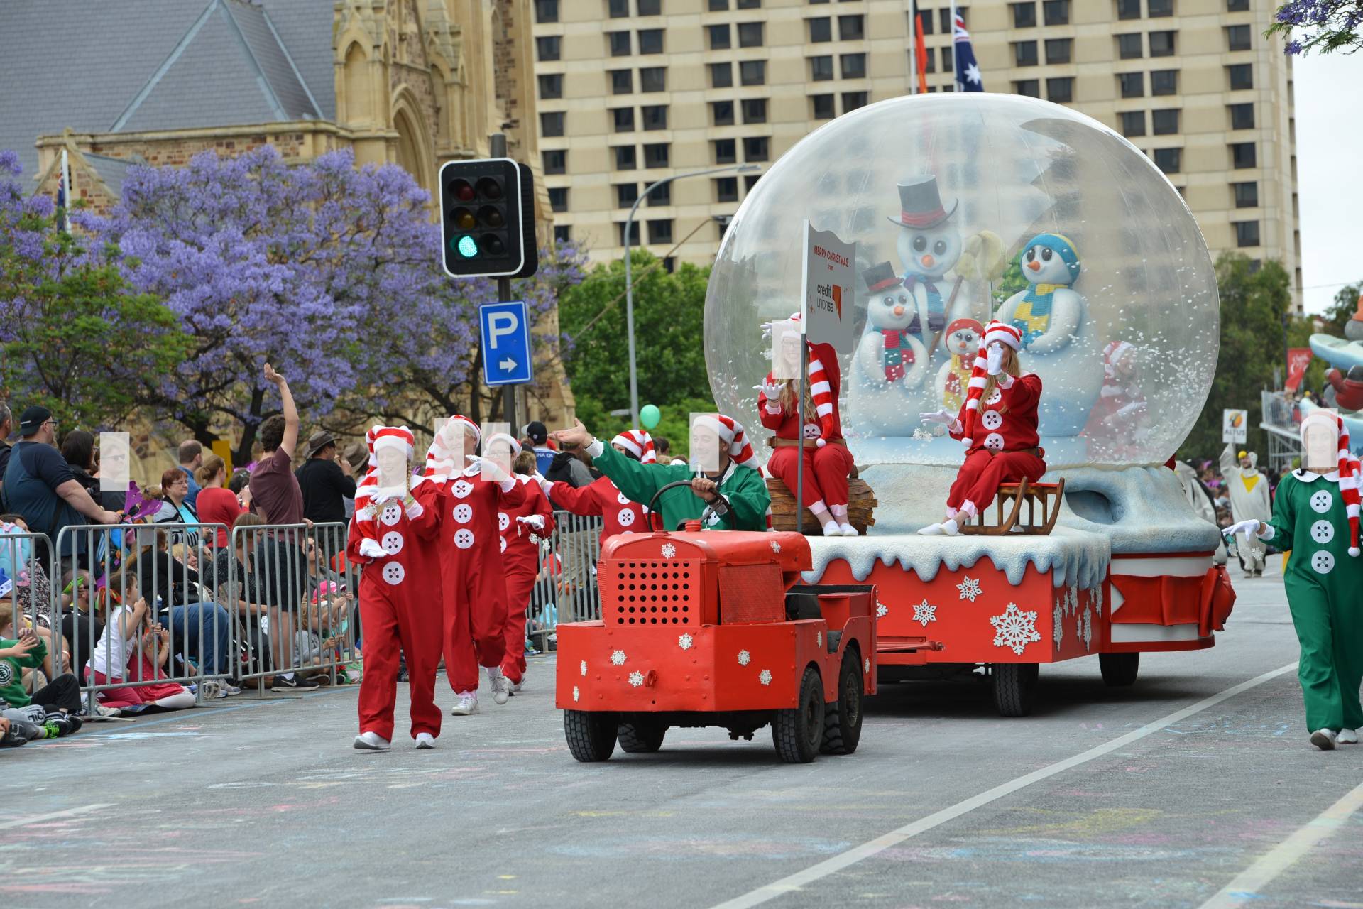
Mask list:
MULTIPOLYGON (((905 825, 905 826, 902 826, 902 827, 900 827, 897 830, 891 830, 890 833, 887 833, 885 835, 880 835, 880 837, 876 837, 875 839, 872 839, 870 842, 864 842, 860 846, 853 846, 852 849, 848 849, 846 852, 844 852, 841 854, 837 854, 837 856, 833 856, 831 859, 821 861, 816 865, 810 865, 804 871, 797 871, 793 875, 789 875, 786 878, 781 878, 780 880, 774 880, 774 882, 771 882, 771 883, 769 883, 766 886, 758 887, 756 890, 750 890, 748 893, 746 893, 746 894, 743 894, 740 897, 735 897, 733 899, 728 899, 725 902, 721 902, 721 904, 716 905, 714 909, 746 909, 747 906, 759 906, 763 902, 767 902, 769 899, 774 899, 774 898, 780 897, 781 894, 786 894, 786 893, 792 893, 795 890, 799 890, 800 887, 804 887, 806 884, 811 884, 815 880, 819 880, 822 878, 827 878, 829 875, 837 874, 838 871, 842 871, 844 868, 855 865, 856 863, 863 861, 864 859, 870 859, 871 856, 878 854, 880 852, 885 852, 886 849, 889 849, 891 846, 897 846, 901 842, 904 842, 905 839, 916 837, 920 833, 925 833, 928 830, 932 830, 934 827, 939 827, 939 826, 945 825, 949 820, 954 820, 954 819, 960 818, 961 815, 965 815, 965 814, 969 814, 969 812, 975 811, 976 808, 981 808, 981 807, 984 807, 984 805, 987 805, 987 804, 990 804, 992 801, 998 801, 999 799, 1003 799, 1005 796, 1010 796, 1014 792, 1017 792, 1018 789, 1024 789, 1026 786, 1030 786, 1033 782, 1040 782, 1043 780, 1047 780, 1050 777, 1056 775, 1058 773, 1065 773, 1066 770, 1069 770, 1071 767, 1078 767, 1082 763, 1088 763, 1089 760, 1093 760, 1094 758, 1101 758, 1105 754, 1111 754, 1111 752, 1116 751, 1118 748, 1123 748, 1123 747, 1131 744, 1133 741, 1144 739, 1144 737, 1149 736, 1150 733, 1159 732, 1160 729, 1164 729, 1165 726, 1171 726, 1175 722, 1180 722, 1183 720, 1187 720, 1189 717, 1191 717, 1195 713, 1201 713, 1201 711, 1206 710, 1208 707, 1214 707, 1216 705, 1221 703, 1223 700, 1234 698, 1235 695, 1238 695, 1238 694, 1240 694, 1243 691, 1249 691, 1250 688, 1254 688, 1255 685, 1261 685, 1265 681, 1270 681, 1273 679, 1277 679, 1283 673, 1292 672, 1293 669, 1296 669, 1296 662, 1289 662, 1285 666, 1278 666, 1277 669, 1273 669, 1270 672, 1265 672, 1262 676, 1255 676, 1255 677, 1250 679, 1249 681, 1242 681, 1238 685, 1232 685, 1232 687, 1227 688, 1221 694, 1212 695, 1210 698, 1204 698, 1202 700, 1198 700, 1194 705, 1183 707, 1182 710, 1175 710, 1169 715, 1160 717, 1154 722, 1146 724, 1146 725, 1141 726, 1139 729, 1134 729, 1134 730, 1126 733, 1124 736, 1118 736, 1112 741, 1108 741, 1108 743, 1104 743, 1101 745, 1096 745, 1093 748, 1089 748, 1088 751, 1077 754, 1073 758, 1066 758, 1065 760, 1058 760, 1058 762, 1055 762, 1055 763, 1052 763, 1050 766, 1041 767, 1040 770, 1033 770, 1029 774, 1021 775, 1017 780, 1010 780, 1009 782, 1005 782, 1005 784, 1000 784, 998 786, 994 786, 992 789, 988 789, 987 792, 981 792, 977 796, 970 796, 965 801, 958 801, 958 803, 955 803, 954 805, 951 805, 949 808, 943 808, 942 811, 936 811, 934 814, 930 814, 928 816, 920 818, 919 820, 915 820, 913 823, 905 825)), ((1360 747, 1363 747, 1363 745, 1360 745, 1360 747)))

